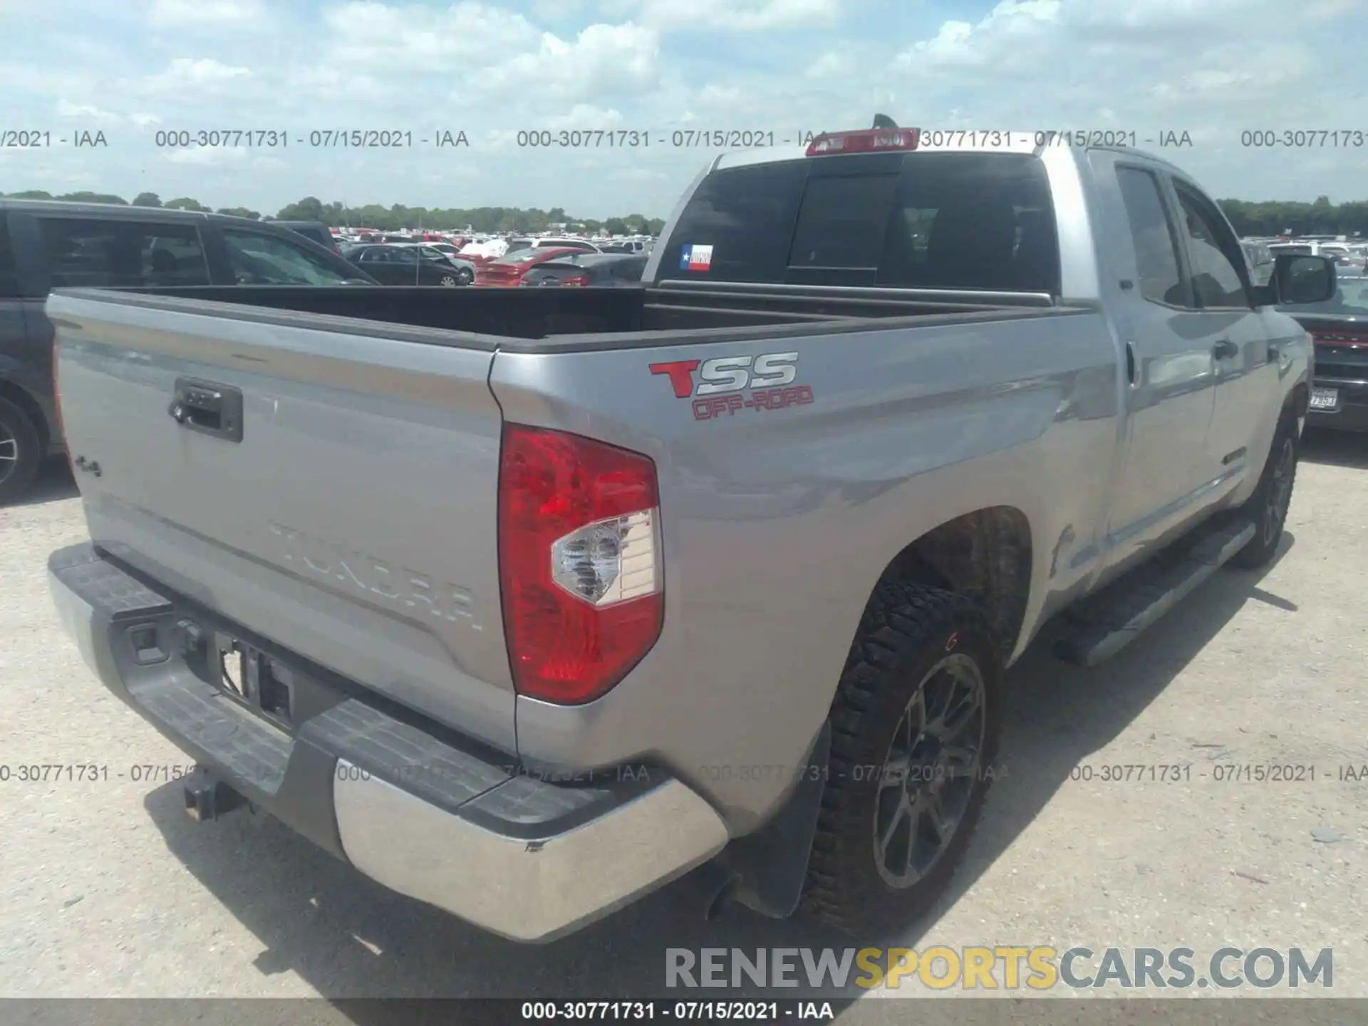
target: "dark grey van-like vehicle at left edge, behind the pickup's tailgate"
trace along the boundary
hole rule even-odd
[[[51,289],[378,285],[337,253],[271,223],[148,207],[0,200],[0,503],[60,453]]]

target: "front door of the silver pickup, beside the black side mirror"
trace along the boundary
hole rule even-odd
[[[1276,417],[1278,363],[1270,358],[1270,326],[1254,308],[1235,233],[1196,185],[1174,176],[1172,186],[1201,338],[1211,346],[1215,371],[1201,476],[1224,490],[1263,469],[1256,436]]]

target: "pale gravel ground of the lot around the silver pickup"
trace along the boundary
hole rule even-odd
[[[53,614],[47,555],[85,538],[63,469],[0,509],[0,762],[100,763],[111,777],[0,782],[0,996],[607,999],[663,993],[666,947],[848,947],[746,911],[707,926],[677,888],[565,941],[518,947],[272,821],[192,822],[178,785],[131,780],[134,765],[186,757],[104,691]],[[1189,947],[1198,962],[1224,945],[1331,947],[1331,993],[1368,996],[1368,781],[1339,778],[1368,763],[1365,471],[1368,439],[1312,436],[1271,569],[1222,572],[1097,669],[1036,644],[1008,676],[1005,777],[953,893],[881,943]],[[1268,763],[1315,766],[1316,780],[1216,780]],[[1190,770],[1104,782],[1108,765]],[[138,1007],[138,1022],[185,1018]],[[306,1022],[393,1021],[367,1008],[297,1005]],[[863,1000],[841,1021],[907,1012]]]

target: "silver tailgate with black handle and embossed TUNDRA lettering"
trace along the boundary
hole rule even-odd
[[[319,317],[264,324],[62,293],[47,309],[97,546],[516,750],[491,350],[447,332],[423,345],[413,328],[354,334]]]

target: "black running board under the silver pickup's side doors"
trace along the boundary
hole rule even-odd
[[[1055,642],[1055,655],[1075,666],[1109,659],[1159,617],[1211,577],[1254,536],[1248,520],[1198,528],[1170,550],[1081,599],[1060,618],[1073,631]]]

